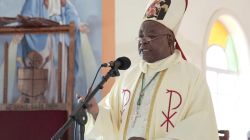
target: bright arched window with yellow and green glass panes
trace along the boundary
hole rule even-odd
[[[248,49],[236,20],[220,16],[209,31],[206,78],[212,94],[218,129],[230,131],[230,139],[246,139],[249,128],[250,95],[243,80],[249,67]],[[247,100],[248,99],[248,100]]]

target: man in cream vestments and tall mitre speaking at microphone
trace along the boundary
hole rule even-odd
[[[185,60],[175,38],[186,8],[187,0],[149,2],[138,37],[142,60],[99,105],[91,101],[88,139],[218,140],[204,73]]]

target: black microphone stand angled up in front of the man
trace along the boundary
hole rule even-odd
[[[88,102],[95,96],[98,90],[103,88],[103,85],[110,77],[120,76],[118,71],[118,67],[111,67],[109,72],[103,76],[102,81],[96,86],[96,88],[85,98],[83,102],[80,102],[75,111],[69,116],[68,120],[64,123],[64,125],[54,134],[51,140],[60,140],[63,134],[67,131],[67,129],[74,123],[79,123],[81,125],[80,128],[80,139],[84,140],[84,132],[85,132],[85,124],[88,121],[86,109],[88,107]]]

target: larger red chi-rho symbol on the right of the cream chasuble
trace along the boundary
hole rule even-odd
[[[164,124],[166,124],[166,131],[168,132],[168,129],[169,129],[169,124],[174,128],[174,124],[172,123],[171,121],[171,118],[174,117],[174,115],[177,113],[177,111],[175,111],[173,114],[170,115],[170,111],[171,110],[176,110],[177,108],[180,107],[181,103],[182,103],[182,97],[181,97],[181,94],[175,90],[168,90],[167,89],[167,95],[170,94],[170,97],[169,97],[169,102],[168,102],[168,114],[166,115],[166,113],[164,111],[162,111],[162,115],[164,116],[165,118],[165,121],[161,124],[161,127],[164,126]],[[179,103],[175,106],[175,107],[171,107],[172,105],[172,95],[177,95],[179,98],[180,98],[180,101]]]

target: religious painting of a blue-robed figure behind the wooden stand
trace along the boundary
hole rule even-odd
[[[85,95],[102,63],[102,1],[99,0],[0,0],[0,27],[75,25],[74,94]],[[58,46],[67,67],[68,34],[0,34],[0,103],[3,102],[4,45],[9,45],[8,103],[49,102],[57,99]],[[60,44],[58,42],[63,42]],[[25,81],[29,75],[43,81]],[[38,72],[39,71],[39,72]],[[67,69],[62,71],[65,94]],[[33,75],[34,77],[34,75]],[[98,75],[98,80],[101,76]],[[32,84],[38,83],[34,90]],[[32,88],[33,89],[33,88]],[[32,92],[32,94],[31,94]],[[43,96],[40,96],[44,93]],[[28,98],[36,96],[40,98]],[[98,95],[97,99],[100,99]],[[63,98],[66,100],[66,97]]]

